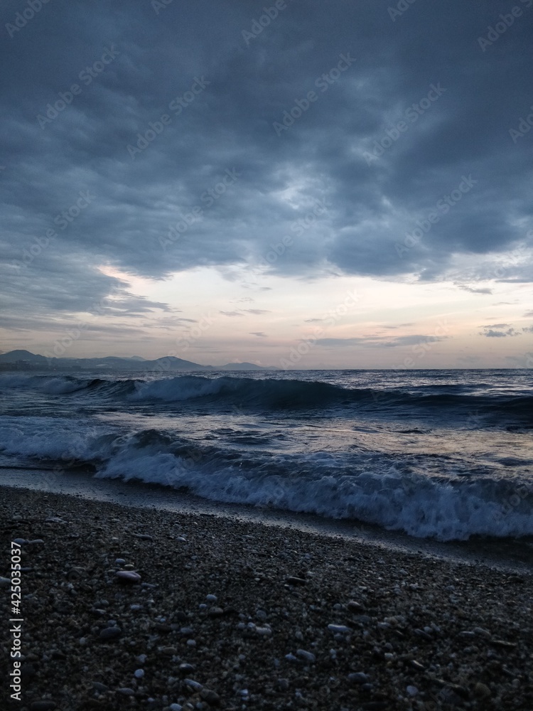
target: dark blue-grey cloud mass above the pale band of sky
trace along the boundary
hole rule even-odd
[[[90,312],[118,283],[101,264],[434,281],[455,255],[532,247],[533,132],[510,129],[532,101],[533,10],[483,51],[497,0],[419,2],[395,22],[389,5],[291,2],[247,42],[261,8],[227,0],[49,3],[16,31],[4,1],[10,313]],[[532,281],[527,254],[501,282]]]

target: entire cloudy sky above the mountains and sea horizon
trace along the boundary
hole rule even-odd
[[[0,350],[533,367],[533,0],[4,0]]]

